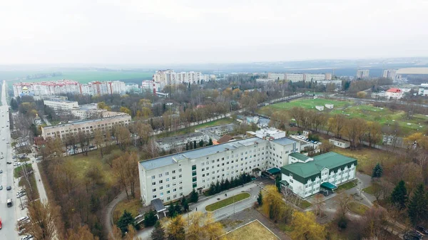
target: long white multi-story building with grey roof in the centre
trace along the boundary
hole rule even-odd
[[[298,142],[287,137],[245,140],[201,147],[174,155],[157,157],[138,163],[141,199],[150,204],[153,199],[170,202],[209,189],[222,179],[252,174],[253,170],[280,168],[288,155],[300,149]]]

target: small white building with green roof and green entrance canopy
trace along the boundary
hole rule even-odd
[[[315,157],[292,153],[294,161],[281,167],[281,183],[302,198],[318,192],[330,194],[337,186],[355,179],[357,160],[327,152]]]

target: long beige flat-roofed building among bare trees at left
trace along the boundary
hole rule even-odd
[[[77,135],[79,132],[93,134],[93,130],[99,129],[102,132],[111,131],[117,125],[131,124],[130,115],[118,115],[111,118],[99,118],[94,120],[84,120],[60,125],[41,127],[41,137],[44,139],[61,137],[66,139],[69,135]]]

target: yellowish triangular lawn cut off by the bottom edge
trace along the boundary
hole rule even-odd
[[[255,220],[241,226],[238,229],[230,231],[228,234],[220,237],[220,240],[233,239],[233,240],[277,240],[277,236],[272,234],[260,221]]]

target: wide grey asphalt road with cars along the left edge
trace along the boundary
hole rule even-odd
[[[15,230],[16,214],[19,211],[19,202],[16,202],[16,185],[14,184],[14,167],[7,165],[6,162],[13,162],[12,152],[10,147],[11,134],[9,127],[9,110],[8,103],[6,102],[6,85],[5,82],[1,88],[1,103],[0,106],[0,156],[3,155],[4,159],[0,160],[0,169],[3,173],[0,174],[0,184],[3,189],[0,190],[0,217],[2,229],[0,230],[0,239],[19,239],[18,233]],[[4,139],[4,140],[3,140]],[[6,144],[9,142],[9,144]],[[11,186],[12,189],[7,191],[6,187]],[[14,206],[7,207],[7,199],[12,199]],[[18,199],[19,200],[19,199]]]

